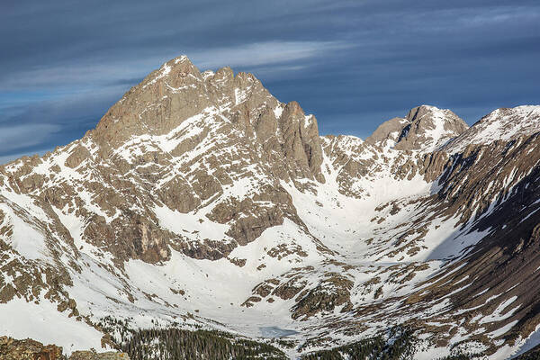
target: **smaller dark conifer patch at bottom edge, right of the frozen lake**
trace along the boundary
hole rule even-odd
[[[411,329],[396,328],[391,330],[391,340],[383,336],[367,338],[302,356],[302,360],[405,360],[412,359],[418,339]]]

